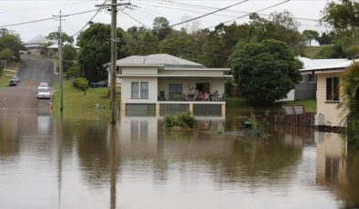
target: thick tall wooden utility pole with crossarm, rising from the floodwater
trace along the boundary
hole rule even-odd
[[[110,84],[109,84],[109,97],[110,97],[110,117],[109,123],[116,124],[117,105],[116,105],[116,61],[117,61],[117,13],[118,5],[131,5],[129,3],[118,3],[117,0],[112,0],[111,4],[96,5],[97,7],[110,7],[111,10],[111,64],[110,64]]]

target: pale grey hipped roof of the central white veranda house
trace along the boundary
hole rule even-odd
[[[118,66],[173,66],[173,67],[195,67],[206,68],[205,65],[201,65],[190,60],[185,60],[177,56],[159,54],[159,55],[132,55],[117,61]]]

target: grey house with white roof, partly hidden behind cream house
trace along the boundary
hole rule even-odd
[[[295,88],[287,94],[287,97],[280,100],[279,102],[315,99],[317,75],[313,74],[313,71],[307,70],[316,67],[323,67],[325,65],[341,64],[348,61],[348,59],[310,59],[301,56],[298,57],[298,60],[303,63],[303,69],[299,70],[302,75],[302,81],[298,85],[295,85]]]

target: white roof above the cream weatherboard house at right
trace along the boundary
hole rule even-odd
[[[358,60],[348,59],[309,59],[306,57],[298,57],[303,62],[301,72],[326,71],[335,69],[344,69]]]

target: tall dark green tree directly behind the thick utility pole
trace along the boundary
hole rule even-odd
[[[103,67],[110,61],[111,28],[105,24],[90,25],[87,30],[77,37],[80,46],[77,55],[80,64],[83,65],[85,75],[89,82],[103,80],[108,73]],[[118,28],[118,59],[129,55],[128,46],[124,41],[125,32]]]

